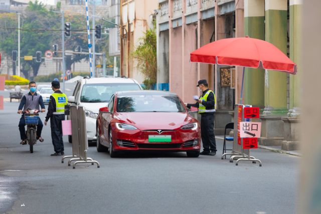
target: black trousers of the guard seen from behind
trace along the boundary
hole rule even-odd
[[[54,114],[50,118],[51,139],[55,152],[64,151],[64,141],[62,140],[62,122],[65,120],[64,114]]]

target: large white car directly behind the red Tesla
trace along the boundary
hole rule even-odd
[[[110,97],[117,91],[142,90],[136,80],[120,77],[84,78],[77,81],[68,104],[85,107],[86,129],[89,142],[96,141],[96,119],[99,108],[107,106]],[[70,116],[67,116],[70,119]],[[71,135],[68,136],[71,143]]]

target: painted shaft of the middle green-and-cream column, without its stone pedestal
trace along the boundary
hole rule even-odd
[[[265,1],[265,40],[286,54],[287,0]],[[286,73],[265,73],[265,114],[284,115],[286,107]]]

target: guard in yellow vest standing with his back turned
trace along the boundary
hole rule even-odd
[[[51,154],[51,156],[60,156],[65,154],[64,141],[62,140],[62,121],[65,120],[67,96],[60,91],[60,83],[58,81],[52,81],[51,86],[54,93],[50,96],[45,125],[50,119],[51,138],[55,150],[55,153]]]

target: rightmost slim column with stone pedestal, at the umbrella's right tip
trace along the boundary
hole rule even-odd
[[[301,65],[301,0],[290,1],[290,59],[295,62],[300,68]],[[301,71],[300,69],[298,69]],[[296,75],[290,75],[290,110],[286,117],[282,117],[284,122],[284,140],[282,142],[282,149],[297,150],[299,146],[299,98],[300,96],[300,76],[301,72]]]

